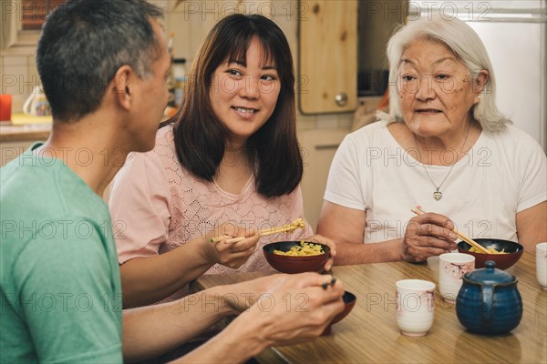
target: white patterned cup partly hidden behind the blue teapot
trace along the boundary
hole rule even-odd
[[[439,292],[447,302],[455,302],[461,288],[461,278],[475,268],[470,254],[446,253],[439,256]]]

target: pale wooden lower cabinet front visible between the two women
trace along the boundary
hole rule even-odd
[[[303,130],[298,133],[304,159],[304,177],[301,183],[304,217],[314,231],[321,207],[323,207],[328,170],[335,157],[336,149],[348,132],[346,128],[327,128]]]

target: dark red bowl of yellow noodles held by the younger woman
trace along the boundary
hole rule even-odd
[[[330,253],[330,248],[323,244],[318,244],[314,241],[305,241],[306,243],[318,244],[323,247],[324,253],[316,256],[294,257],[274,254],[274,250],[289,251],[291,248],[299,246],[301,241],[278,241],[266,244],[263,246],[264,258],[266,258],[270,266],[283,273],[321,272]]]

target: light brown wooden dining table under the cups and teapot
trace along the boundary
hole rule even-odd
[[[523,302],[520,325],[499,336],[473,334],[456,316],[454,304],[439,295],[439,258],[427,264],[377,263],[333,268],[356,306],[332,327],[330,335],[312,342],[266,349],[255,359],[264,363],[547,363],[547,290],[535,275],[535,252],[524,252],[505,271],[516,276]],[[202,276],[194,290],[263,276],[238,273]],[[396,323],[395,283],[426,279],[436,285],[435,319],[428,335],[402,335]]]

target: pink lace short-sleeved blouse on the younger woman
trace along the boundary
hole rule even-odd
[[[120,264],[168,252],[225,222],[260,229],[304,218],[300,187],[282,197],[265,198],[256,192],[251,177],[242,192],[233,195],[214,181],[191,175],[177,159],[172,126],[158,131],[150,152],[129,154],[112,184],[109,207]],[[271,270],[263,258],[263,245],[312,235],[306,226],[293,235],[261,238],[241,268],[216,264],[206,274]]]

